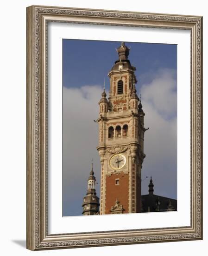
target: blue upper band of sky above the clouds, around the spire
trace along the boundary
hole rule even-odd
[[[80,88],[103,84],[104,77],[118,59],[120,42],[63,40],[63,86]],[[158,69],[176,69],[176,45],[128,43],[129,60],[137,68],[138,84],[149,83]],[[152,74],[152,75],[151,75]]]

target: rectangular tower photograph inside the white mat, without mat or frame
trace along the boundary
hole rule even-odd
[[[62,43],[63,216],[177,211],[177,45]]]

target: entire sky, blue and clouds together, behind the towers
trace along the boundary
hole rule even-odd
[[[100,197],[98,101],[103,81],[118,60],[120,42],[63,39],[63,216],[82,215],[82,200],[93,159]],[[177,46],[126,42],[137,68],[137,94],[145,112],[142,194],[152,176],[154,194],[177,198]],[[146,178],[148,177],[148,178]]]

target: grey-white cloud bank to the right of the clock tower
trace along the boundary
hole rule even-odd
[[[176,197],[176,79],[175,71],[160,70],[150,84],[141,86],[145,112],[144,160],[142,176],[152,175],[154,193]],[[148,194],[149,178],[142,182],[142,193]]]

